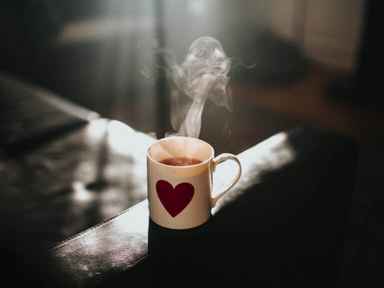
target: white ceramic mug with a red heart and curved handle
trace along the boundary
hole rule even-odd
[[[174,165],[167,159],[195,159],[199,163]],[[237,163],[237,174],[212,197],[212,174],[216,165],[227,159]],[[214,157],[212,146],[203,140],[182,136],[157,140],[147,151],[149,217],[173,229],[201,225],[210,217],[217,199],[237,182],[240,174],[241,165],[235,155],[223,153]]]

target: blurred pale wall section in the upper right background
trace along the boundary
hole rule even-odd
[[[316,61],[352,69],[364,0],[260,0],[255,16]]]

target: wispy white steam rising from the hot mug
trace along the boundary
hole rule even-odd
[[[170,122],[176,133],[168,135],[198,138],[208,98],[231,110],[232,95],[227,87],[230,64],[220,42],[203,36],[190,45],[181,65],[169,67],[168,75],[176,86],[171,93],[170,110]],[[183,100],[185,96],[188,101]]]

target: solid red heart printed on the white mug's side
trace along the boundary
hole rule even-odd
[[[190,183],[183,182],[173,188],[168,181],[158,180],[156,192],[165,210],[174,217],[189,204],[194,194],[194,187]]]

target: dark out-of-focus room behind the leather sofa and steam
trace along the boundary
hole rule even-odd
[[[217,38],[233,110],[207,102],[200,134],[217,153],[296,124],[358,143],[341,273],[351,286],[384,268],[381,11],[373,0],[2,0],[0,70],[160,137],[170,84],[155,51],[181,61],[196,38]]]

